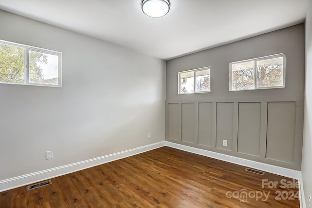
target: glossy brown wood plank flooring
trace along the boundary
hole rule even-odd
[[[262,179],[278,184],[262,188]],[[30,191],[0,192],[0,208],[299,208],[299,200],[292,200],[298,188],[283,188],[292,179],[250,173],[243,166],[170,147],[51,181]]]

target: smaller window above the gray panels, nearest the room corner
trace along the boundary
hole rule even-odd
[[[178,94],[210,92],[210,67],[178,73]]]

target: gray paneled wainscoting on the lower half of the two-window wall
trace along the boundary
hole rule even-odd
[[[166,141],[300,170],[302,106],[295,101],[167,103]]]

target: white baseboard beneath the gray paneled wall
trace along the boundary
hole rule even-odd
[[[258,170],[270,172],[273,174],[277,174],[277,175],[281,175],[281,176],[285,176],[285,177],[289,177],[289,178],[293,178],[297,180],[300,179],[300,171],[298,170],[293,170],[293,169],[280,167],[280,166],[273,166],[273,165],[269,165],[265,163],[260,163],[260,162],[256,162],[252,160],[234,157],[231,155],[221,154],[218,152],[212,152],[212,151],[199,149],[199,148],[195,148],[191,146],[180,145],[180,144],[176,144],[176,143],[172,143],[168,141],[166,141],[166,146],[180,149],[180,150],[187,151],[187,152],[192,152],[198,155],[203,155],[206,157],[211,157],[211,158],[215,158],[218,160],[234,163],[234,164],[241,165],[241,166],[252,167]]]

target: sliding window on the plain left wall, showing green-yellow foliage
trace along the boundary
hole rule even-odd
[[[61,53],[0,41],[0,83],[61,87]]]

